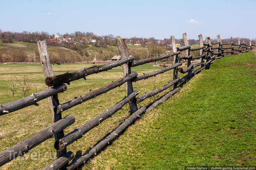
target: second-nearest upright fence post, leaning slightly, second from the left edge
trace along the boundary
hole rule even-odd
[[[120,53],[121,58],[129,57],[129,51],[128,51],[128,48],[126,46],[126,39],[116,38],[116,43],[117,43],[117,47],[119,49],[119,53]],[[130,65],[129,65],[129,63],[125,63],[125,64],[123,64],[123,76],[129,75],[129,74],[131,74]],[[130,80],[125,83],[125,87],[126,87],[126,94],[127,95],[130,95],[131,93],[133,93],[133,84]],[[134,112],[137,111],[138,108],[137,108],[135,98],[133,98],[129,102],[129,106],[130,106],[130,114],[133,114]]]

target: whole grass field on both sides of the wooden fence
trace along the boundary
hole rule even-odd
[[[55,74],[79,70],[84,65],[52,66]],[[90,65],[85,65],[86,67]],[[142,65],[132,71],[152,72],[159,68]],[[203,70],[173,98],[142,116],[120,137],[81,169],[184,169],[185,165],[255,165],[256,162],[256,56],[246,53],[225,57]],[[12,101],[9,84],[14,79],[28,77],[32,92],[45,89],[40,65],[0,65],[0,103]],[[183,75],[179,74],[179,77]],[[71,82],[67,91],[59,94],[61,103],[111,83],[122,77],[122,68],[114,68],[87,80]],[[163,86],[172,79],[172,71],[134,83],[142,93]],[[148,105],[159,96],[143,101]],[[62,113],[72,114],[76,122],[66,128],[67,134],[121,100],[125,88],[111,90]],[[16,100],[21,98],[21,92]],[[1,116],[0,151],[8,149],[51,124],[47,100]],[[84,154],[107,133],[127,118],[128,105],[115,113],[81,139],[67,147],[68,151]],[[31,149],[24,157],[4,165],[3,169],[41,169],[55,157],[54,139]],[[47,153],[47,154],[45,154]]]

